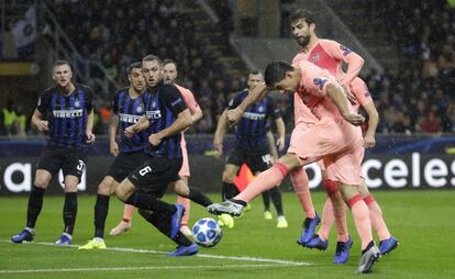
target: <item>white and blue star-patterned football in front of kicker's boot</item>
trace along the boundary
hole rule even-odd
[[[195,242],[198,245],[203,247],[213,247],[221,241],[223,231],[215,220],[204,217],[195,223],[192,226],[192,234]]]

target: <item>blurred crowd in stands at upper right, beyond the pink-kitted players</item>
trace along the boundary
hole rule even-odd
[[[398,72],[367,77],[380,133],[455,129],[455,8],[450,1],[376,1],[390,40],[403,56]]]

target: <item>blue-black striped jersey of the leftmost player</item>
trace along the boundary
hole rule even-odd
[[[48,121],[48,145],[81,148],[87,142],[87,116],[93,109],[93,96],[87,86],[76,85],[65,96],[57,86],[46,89],[36,109]]]

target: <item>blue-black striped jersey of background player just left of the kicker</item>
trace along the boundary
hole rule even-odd
[[[229,109],[235,109],[248,94],[248,89],[237,93],[229,103]],[[264,97],[249,105],[235,126],[235,144],[244,148],[264,148],[267,142],[267,120],[281,118],[281,111],[269,97]]]

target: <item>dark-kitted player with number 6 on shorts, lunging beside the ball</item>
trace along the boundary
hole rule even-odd
[[[142,71],[148,89],[144,96],[146,118],[141,118],[124,133],[133,136],[146,129],[149,131],[149,144],[145,148],[147,158],[115,188],[115,194],[124,203],[138,208],[138,213],[147,222],[178,244],[169,256],[195,255],[198,246],[180,232],[185,207],[160,200],[168,185],[173,185],[178,194],[193,201],[201,196],[178,176],[182,163],[181,132],[191,125],[191,113],[178,89],[163,82],[162,62],[157,56],[145,56]],[[196,202],[211,203],[207,200]]]

